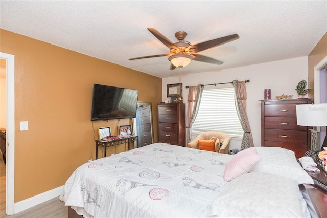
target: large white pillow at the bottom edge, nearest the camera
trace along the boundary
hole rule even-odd
[[[282,176],[246,173],[229,182],[213,201],[209,216],[303,217],[299,188]]]

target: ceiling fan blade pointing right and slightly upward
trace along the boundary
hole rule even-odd
[[[212,39],[209,41],[204,41],[201,43],[198,43],[196,45],[193,46],[189,46],[186,51],[189,51],[190,49],[194,50],[194,53],[197,52],[201,52],[204,51],[206,49],[210,49],[216,46],[220,46],[223,45],[224,43],[239,39],[240,36],[238,34],[233,34],[233,35],[229,35],[229,36],[225,36],[225,37],[221,37],[221,38],[216,38],[216,39]]]

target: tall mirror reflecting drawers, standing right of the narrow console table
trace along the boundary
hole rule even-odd
[[[150,105],[139,105],[136,109],[137,147],[153,143]]]

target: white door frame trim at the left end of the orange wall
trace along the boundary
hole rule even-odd
[[[6,214],[14,213],[15,56],[0,52],[6,61]]]

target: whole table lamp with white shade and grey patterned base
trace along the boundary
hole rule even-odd
[[[327,126],[327,104],[300,104],[296,105],[296,119],[299,126],[312,126],[311,150],[320,150],[319,126]],[[327,135],[322,147],[327,146]]]

